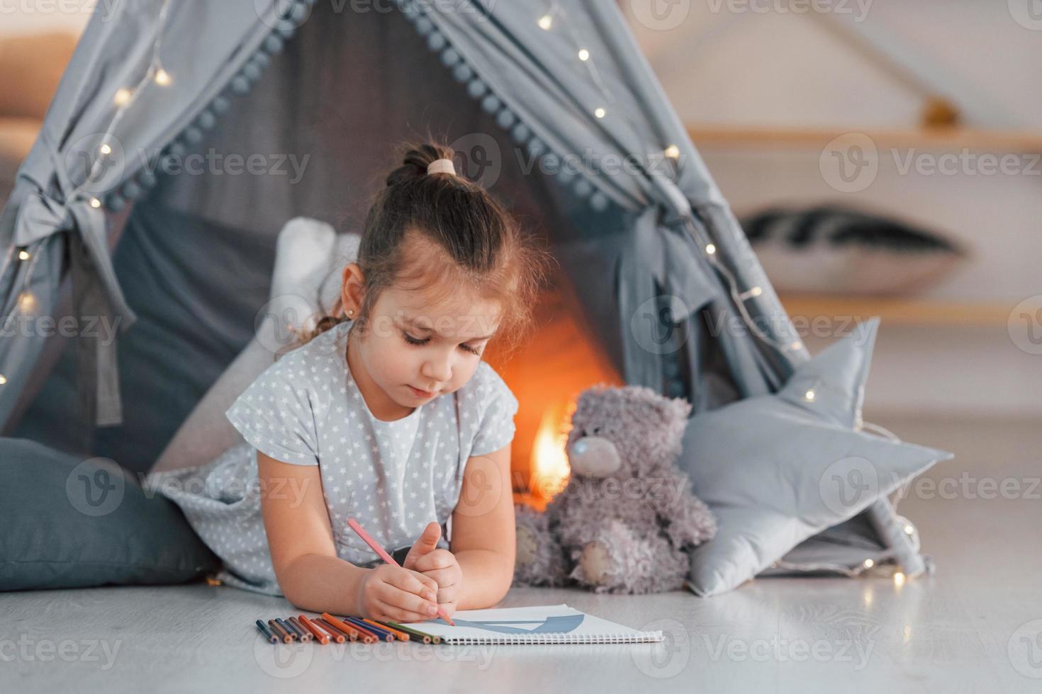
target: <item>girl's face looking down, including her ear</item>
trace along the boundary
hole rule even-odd
[[[344,309],[361,310],[362,274],[344,269]],[[496,302],[430,292],[383,290],[365,333],[352,328],[348,365],[370,411],[401,418],[439,395],[458,390],[473,376],[499,323]],[[359,326],[361,328],[361,326]],[[359,334],[355,334],[359,333]]]

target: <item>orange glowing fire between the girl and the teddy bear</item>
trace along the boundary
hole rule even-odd
[[[568,480],[565,441],[575,399],[592,385],[622,380],[568,291],[546,291],[536,317],[538,328],[511,359],[490,349],[488,361],[519,403],[511,448],[515,500],[542,510]]]

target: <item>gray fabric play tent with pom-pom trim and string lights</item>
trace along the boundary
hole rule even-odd
[[[390,145],[416,124],[498,150],[493,192],[552,243],[627,383],[699,412],[772,392],[809,358],[614,3],[554,3],[555,31],[534,2],[162,7],[127,0],[94,16],[0,216],[5,318],[23,291],[39,314],[55,310],[71,276],[73,313],[118,323],[120,337],[118,352],[83,336],[48,345],[57,366],[39,391],[26,384],[45,336],[5,337],[5,433],[147,469],[249,340],[281,224],[357,228]],[[573,59],[579,46],[589,61]],[[212,153],[293,165],[171,170]],[[921,562],[886,499],[867,515],[851,528]]]

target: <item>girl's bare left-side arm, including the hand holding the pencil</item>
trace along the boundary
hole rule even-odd
[[[430,618],[432,579],[395,566],[361,568],[337,556],[317,465],[292,465],[258,451],[257,477],[275,577],[290,602],[340,615]]]

